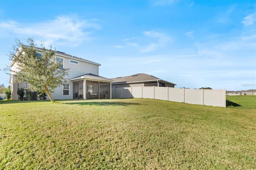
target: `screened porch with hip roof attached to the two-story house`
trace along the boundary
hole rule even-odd
[[[112,79],[88,73],[70,81],[73,83],[73,99],[111,99]]]

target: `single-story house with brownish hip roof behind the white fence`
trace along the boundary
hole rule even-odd
[[[112,88],[120,87],[140,87],[140,86],[156,86],[156,87],[174,87],[176,84],[164,81],[152,75],[139,73],[126,77],[112,78]]]

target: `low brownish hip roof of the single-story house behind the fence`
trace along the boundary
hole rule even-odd
[[[150,81],[164,81],[162,79],[159,79],[155,76],[144,74],[144,73],[139,73],[139,74],[134,74],[126,77],[116,77],[116,78],[111,78],[114,80],[112,84],[124,84],[124,83],[140,83],[140,82],[150,82]],[[171,83],[169,81],[164,81],[169,84],[176,85],[174,83]]]

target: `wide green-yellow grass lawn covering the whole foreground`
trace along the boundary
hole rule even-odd
[[[256,96],[227,100],[0,101],[0,169],[256,169]]]

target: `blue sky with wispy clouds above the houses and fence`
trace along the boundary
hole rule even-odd
[[[0,68],[15,39],[100,63],[100,76],[256,89],[255,0],[0,0]],[[9,76],[0,71],[0,84]]]

